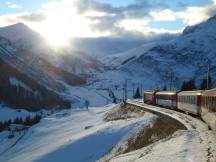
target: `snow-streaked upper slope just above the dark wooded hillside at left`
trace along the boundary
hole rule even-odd
[[[84,79],[57,68],[31,51],[17,49],[13,43],[3,37],[0,37],[0,58],[19,72],[54,90],[64,88],[58,80],[69,81],[68,83],[72,85],[85,83]]]

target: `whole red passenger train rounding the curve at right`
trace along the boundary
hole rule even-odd
[[[200,116],[216,130],[216,89],[205,91],[145,91],[144,103]]]

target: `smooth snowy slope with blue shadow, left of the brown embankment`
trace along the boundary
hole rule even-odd
[[[154,115],[105,122],[103,116],[113,105],[63,110],[31,127],[12,149],[0,156],[4,162],[94,162],[122,138],[143,124],[151,124]]]

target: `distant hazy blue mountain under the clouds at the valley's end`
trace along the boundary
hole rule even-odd
[[[137,48],[145,43],[161,40],[171,40],[177,34],[161,34],[157,36],[120,36],[120,37],[98,37],[98,38],[76,38],[72,40],[76,50],[99,58],[108,57],[116,53]],[[130,39],[128,39],[130,37]]]

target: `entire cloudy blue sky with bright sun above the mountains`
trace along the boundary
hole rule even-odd
[[[216,14],[216,0],[1,0],[0,26],[22,22],[45,37],[180,33]]]

